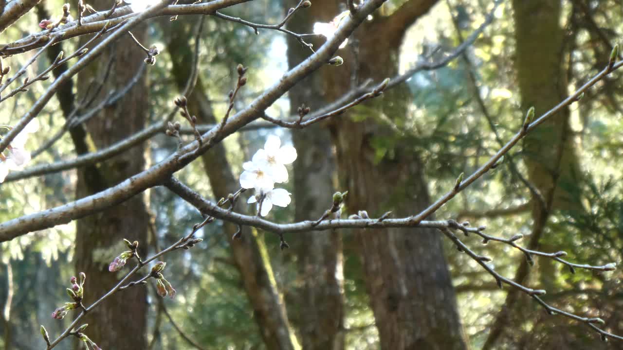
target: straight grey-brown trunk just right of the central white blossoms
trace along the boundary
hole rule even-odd
[[[305,13],[288,23],[288,29],[312,32],[313,22],[313,13]],[[298,40],[288,37],[290,68],[310,53]],[[312,109],[320,108],[326,102],[322,95],[321,78],[312,75],[288,92],[290,111],[296,113],[303,103]],[[295,220],[316,220],[331,206],[334,191],[336,164],[331,135],[326,126],[314,125],[293,130],[292,142],[298,153],[294,163]],[[306,232],[291,243],[298,257],[298,280],[302,283],[298,289],[297,326],[303,349],[343,349],[345,300],[340,233]]]

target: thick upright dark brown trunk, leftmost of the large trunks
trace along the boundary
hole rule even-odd
[[[97,8],[110,6],[107,1],[95,1]],[[146,27],[136,27],[136,38],[145,40]],[[145,43],[149,46],[148,43]],[[103,54],[78,75],[79,92],[101,75],[113,57],[112,71],[103,93],[125,86],[143,64],[145,54],[129,35],[118,40],[112,49]],[[114,106],[105,108],[87,123],[87,130],[95,148],[103,148],[122,140],[145,126],[149,110],[145,77]],[[100,164],[97,177],[88,169],[78,169],[77,197],[114,186],[145,168],[145,146],[128,149],[125,153]],[[115,255],[127,250],[122,239],[140,242],[141,255],[146,253],[148,214],[144,194],[113,206],[101,213],[77,222],[76,272],[85,272],[85,303],[97,300],[114,286],[123,275],[108,272],[108,264]],[[133,264],[133,263],[130,263]],[[88,336],[103,349],[145,349],[146,344],[146,288],[129,288],[108,298],[84,319],[90,324]]]

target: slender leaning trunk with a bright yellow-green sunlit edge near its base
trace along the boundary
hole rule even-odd
[[[174,77],[179,88],[186,85],[186,78],[193,62],[193,52],[188,44],[189,35],[182,26],[181,23],[173,23],[174,29],[168,46],[168,52],[173,58]],[[193,93],[188,96],[188,109],[197,116],[200,123],[215,123],[216,118],[205,91],[201,78],[197,79]],[[227,198],[228,194],[240,188],[237,178],[231,171],[222,143],[210,149],[201,160],[216,198]],[[227,223],[223,227],[267,349],[297,349],[297,339],[290,329],[285,305],[270,267],[263,235],[244,227],[242,239],[234,240],[232,236],[238,229],[237,225]]]

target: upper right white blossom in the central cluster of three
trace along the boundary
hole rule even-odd
[[[264,149],[258,149],[254,154],[252,162],[260,164],[261,168],[265,168],[269,172],[269,176],[273,182],[282,183],[288,181],[288,170],[286,164],[291,164],[297,159],[297,150],[292,146],[281,146],[281,140],[276,135],[270,135]],[[254,186],[256,188],[268,188],[262,186]],[[272,186],[270,186],[272,189]]]

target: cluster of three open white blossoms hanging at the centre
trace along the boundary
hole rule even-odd
[[[297,150],[292,146],[282,146],[278,136],[270,135],[263,149],[259,149],[250,162],[242,164],[240,186],[255,189],[247,203],[256,203],[260,215],[266,216],[274,206],[286,207],[290,204],[290,192],[275,188],[275,183],[288,181],[286,164],[297,159]],[[260,205],[261,204],[261,205]]]

